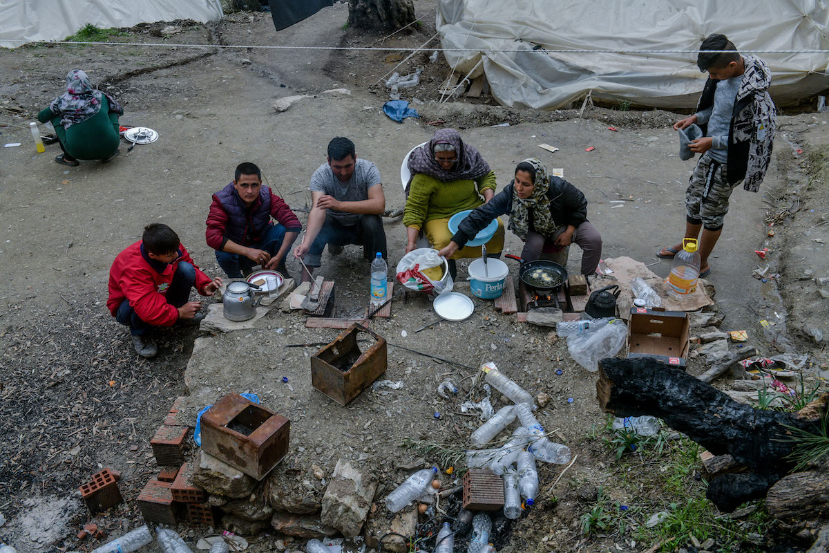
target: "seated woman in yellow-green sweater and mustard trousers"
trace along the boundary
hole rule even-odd
[[[412,178],[403,211],[406,226],[406,253],[417,246],[420,230],[436,250],[452,240],[448,221],[458,211],[475,209],[495,194],[495,172],[478,150],[464,144],[455,129],[440,129],[428,143],[415,148],[409,158]],[[487,254],[500,254],[504,247],[504,226],[487,242]],[[449,259],[480,257],[481,246],[459,249]]]

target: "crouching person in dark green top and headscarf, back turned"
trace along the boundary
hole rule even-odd
[[[66,75],[66,92],[37,114],[41,123],[51,121],[63,153],[56,163],[75,167],[79,159],[108,162],[118,155],[118,117],[124,109],[115,99],[95,90],[80,69]]]

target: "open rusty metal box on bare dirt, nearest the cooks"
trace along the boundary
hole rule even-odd
[[[365,352],[357,345],[360,332],[376,340]],[[311,386],[347,405],[385,372],[387,362],[385,340],[362,325],[352,324],[311,357]]]

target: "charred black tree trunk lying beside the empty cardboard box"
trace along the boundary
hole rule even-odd
[[[652,359],[609,358],[599,362],[596,395],[608,413],[656,416],[711,454],[731,455],[749,468],[711,481],[706,495],[721,511],[763,497],[788,473],[793,444],[779,441],[789,434],[783,424],[817,432],[829,400],[824,394],[798,413],[758,410]]]

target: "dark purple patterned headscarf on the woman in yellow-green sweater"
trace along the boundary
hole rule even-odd
[[[458,161],[448,171],[440,166],[434,158],[434,145],[452,144],[458,154]],[[412,175],[424,174],[439,181],[474,180],[490,172],[489,165],[483,160],[478,150],[464,144],[460,133],[455,129],[440,129],[428,143],[416,148],[409,157],[409,170]]]

